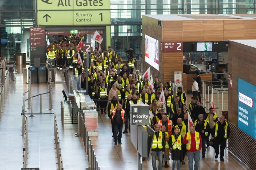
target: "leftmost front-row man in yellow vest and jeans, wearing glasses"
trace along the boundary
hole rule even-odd
[[[160,125],[155,124],[155,135],[153,139],[151,155],[152,155],[152,166],[153,170],[156,170],[156,156],[158,157],[158,170],[163,169],[163,154],[165,150],[165,141],[163,139],[163,133],[160,130]]]

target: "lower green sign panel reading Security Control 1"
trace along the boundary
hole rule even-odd
[[[109,10],[38,11],[38,25],[108,25]],[[77,31],[77,30],[70,30]]]

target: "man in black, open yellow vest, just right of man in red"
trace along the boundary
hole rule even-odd
[[[195,121],[195,129],[197,132],[199,132],[199,134],[202,137],[202,158],[205,158],[205,143],[206,143],[206,138],[209,135],[209,123],[204,120],[204,115],[200,114],[198,115],[198,119]]]

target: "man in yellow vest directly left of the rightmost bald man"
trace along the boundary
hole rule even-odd
[[[216,122],[219,121],[218,116],[214,113],[215,110],[214,108],[210,107],[210,112],[206,113],[204,115],[204,120],[206,120],[209,123],[210,129],[209,129],[209,135],[206,137],[206,148],[209,148],[209,139],[210,139],[210,134],[212,132],[213,126],[215,125]]]

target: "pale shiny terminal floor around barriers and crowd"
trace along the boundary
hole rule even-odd
[[[22,67],[18,68],[21,73]],[[56,112],[59,127],[60,146],[62,160],[65,170],[82,170],[88,166],[81,139],[74,136],[77,132],[77,125],[62,129],[60,118],[60,100],[63,100],[61,90],[66,90],[64,77],[61,73],[56,73],[56,83],[53,87],[53,111],[49,108],[48,95],[42,96],[43,113]],[[32,84],[31,95],[48,91],[47,84]],[[18,74],[16,81],[10,82],[8,96],[5,101],[4,112],[0,119],[0,170],[16,170],[22,167],[23,144],[21,137],[21,115],[22,93],[27,91],[27,85],[23,84],[23,75]],[[189,95],[187,97],[189,99]],[[226,103],[227,104],[227,103]],[[30,113],[30,110],[28,110]],[[33,98],[33,113],[39,113],[39,98]],[[28,116],[28,115],[27,115]],[[40,170],[56,170],[55,159],[56,149],[54,149],[53,115],[43,114],[28,118],[29,145],[28,145],[28,165],[27,167],[40,167]],[[99,165],[103,170],[134,170],[137,169],[137,151],[130,141],[130,133],[124,134],[122,144],[114,145],[111,124],[107,115],[99,115],[99,136],[91,137],[93,148],[99,160]],[[207,149],[206,158],[200,160],[199,169],[229,169],[242,170],[241,166],[228,151],[225,151],[225,162],[214,159],[212,147]],[[181,169],[188,169],[187,157],[185,165]],[[172,160],[168,161],[172,165]],[[152,169],[151,159],[143,161],[143,169]],[[163,168],[167,169],[167,168]],[[171,169],[171,166],[170,168]]]

